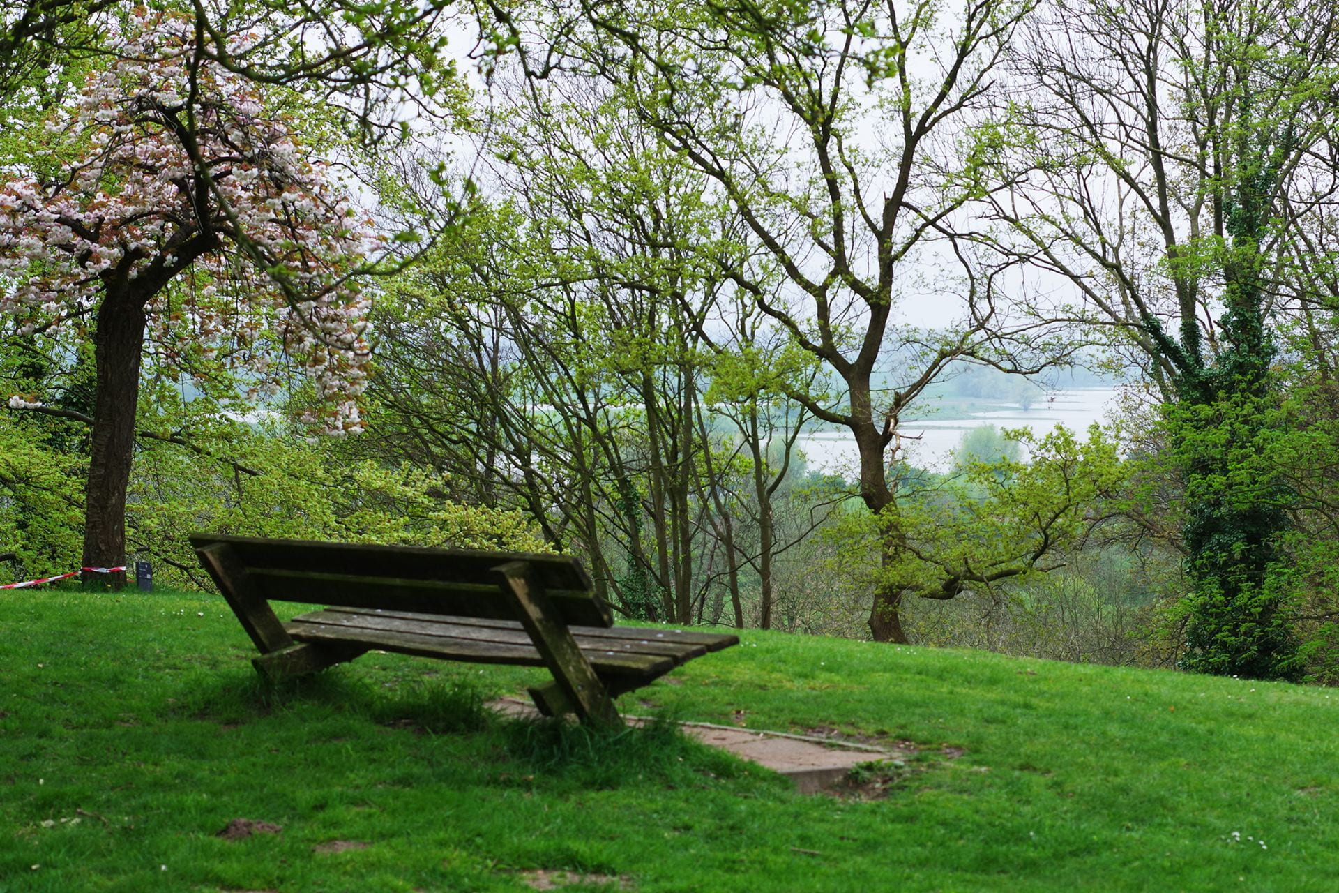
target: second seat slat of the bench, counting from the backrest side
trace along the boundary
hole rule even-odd
[[[520,623],[503,625],[502,621],[475,621],[469,617],[446,617],[432,615],[387,615],[380,611],[313,611],[293,617],[293,623],[328,624],[331,627],[353,627],[384,629],[387,632],[407,632],[420,636],[450,636],[454,639],[474,639],[477,641],[501,641],[509,644],[530,644],[530,635]],[[569,627],[572,637],[584,652],[619,651],[641,655],[663,655],[675,663],[684,663],[707,653],[703,645],[695,643],[664,641],[659,639],[620,639],[611,636],[585,636],[580,631],[589,627]],[[605,631],[597,631],[605,632]]]

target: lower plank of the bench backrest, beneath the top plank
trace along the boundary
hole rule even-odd
[[[280,568],[253,569],[250,576],[265,597],[273,601],[308,601],[344,608],[383,608],[493,620],[516,619],[516,609],[498,592],[497,584],[486,588],[462,586],[431,580],[355,577]],[[607,619],[613,623],[608,606],[589,593],[564,590],[554,594],[553,604],[568,624],[605,627]]]

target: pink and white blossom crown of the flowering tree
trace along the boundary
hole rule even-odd
[[[366,216],[254,84],[197,60],[187,16],[138,9],[112,43],[32,170],[0,174],[0,312],[50,331],[142,299],[154,343],[212,359],[228,340],[260,374],[274,333],[328,430],[360,430],[368,305],[349,276],[378,248]]]

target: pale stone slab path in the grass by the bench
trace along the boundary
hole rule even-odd
[[[501,698],[490,707],[507,716],[538,719],[540,712],[528,700]],[[629,726],[645,722],[641,716],[624,718]],[[730,751],[735,756],[766,766],[789,778],[802,794],[814,794],[845,781],[852,767],[877,759],[897,756],[893,751],[853,742],[830,742],[813,735],[793,735],[755,728],[736,728],[714,723],[679,723],[684,734],[703,744]]]

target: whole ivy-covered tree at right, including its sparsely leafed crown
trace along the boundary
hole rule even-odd
[[[1280,331],[1332,301],[1334,11],[1229,0],[1048,3],[1012,74],[995,194],[1006,250],[1075,288],[1165,400],[1186,501],[1184,665],[1302,672],[1283,544]],[[1330,304],[1332,307],[1332,304]]]

